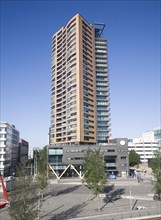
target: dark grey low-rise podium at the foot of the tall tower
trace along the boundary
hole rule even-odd
[[[128,139],[116,138],[109,144],[96,145],[50,145],[48,147],[48,159],[52,169],[61,174],[69,164],[72,164],[80,173],[83,170],[83,157],[88,149],[100,149],[104,155],[105,169],[107,173],[115,173],[119,176],[128,175]],[[93,168],[95,169],[95,168]],[[71,175],[72,170],[66,174]]]

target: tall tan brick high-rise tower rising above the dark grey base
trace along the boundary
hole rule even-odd
[[[75,15],[52,38],[50,144],[107,143],[109,77],[104,24]]]

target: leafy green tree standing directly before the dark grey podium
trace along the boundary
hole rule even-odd
[[[97,197],[104,190],[104,184],[107,182],[105,173],[105,161],[100,149],[87,150],[83,158],[84,182],[88,188]],[[100,203],[98,200],[98,210]]]

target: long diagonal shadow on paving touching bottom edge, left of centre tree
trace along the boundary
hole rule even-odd
[[[66,211],[63,211],[61,213],[55,214],[50,220],[66,220],[69,218],[75,218],[78,213],[81,212],[82,208],[86,206],[86,203],[78,204],[73,206],[70,209],[67,209]]]

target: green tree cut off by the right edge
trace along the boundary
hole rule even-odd
[[[161,154],[157,152],[155,158],[151,163],[152,170],[156,181],[154,182],[154,188],[158,194],[161,195]]]

